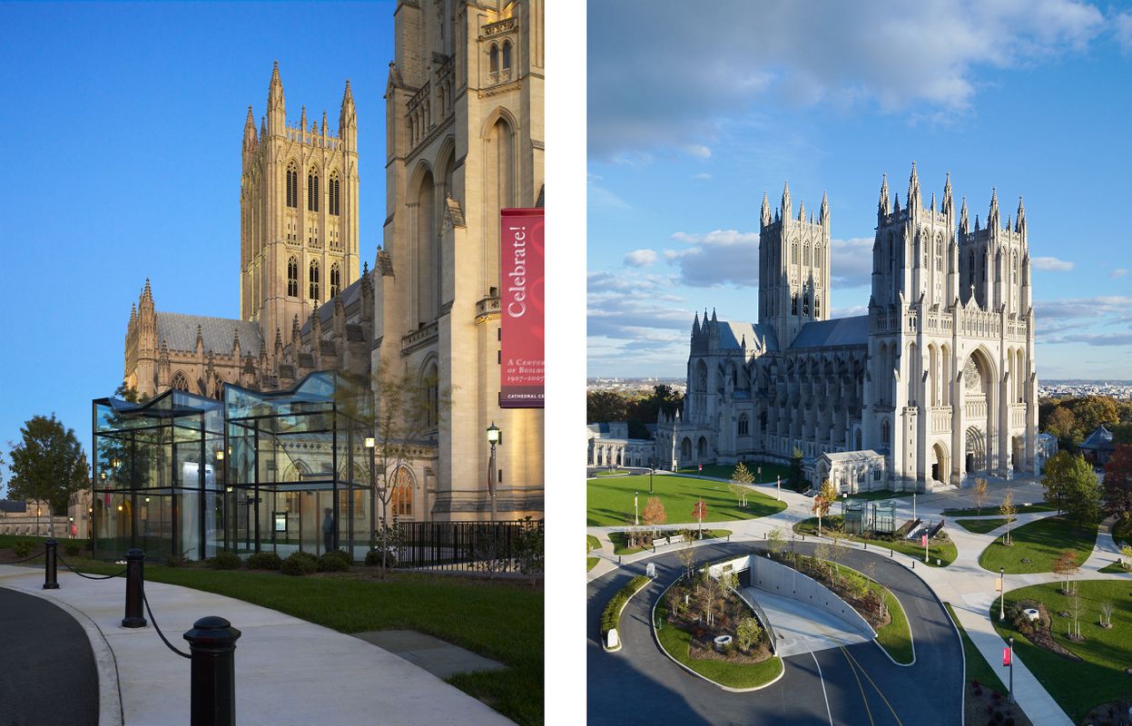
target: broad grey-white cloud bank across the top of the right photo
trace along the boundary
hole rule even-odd
[[[1121,42],[1132,42],[1126,16]],[[694,21],[683,3],[624,0],[593,3],[589,20],[589,144],[602,159],[710,150],[720,124],[757,103],[946,120],[971,107],[985,69],[1082,50],[1105,26],[1079,0],[717,0]],[[752,42],[752,28],[773,32]]]

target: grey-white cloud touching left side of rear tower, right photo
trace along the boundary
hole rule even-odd
[[[679,268],[679,284],[692,287],[758,285],[758,233],[715,230],[706,234],[672,235],[688,247],[664,250],[664,259]]]

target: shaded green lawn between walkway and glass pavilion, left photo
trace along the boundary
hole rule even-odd
[[[121,570],[114,563],[92,560],[72,563],[103,574]],[[288,577],[146,563],[145,574],[151,581],[226,595],[340,632],[418,630],[436,636],[508,666],[506,671],[457,674],[449,683],[520,724],[543,723],[540,590],[509,580],[415,573],[393,573],[381,582],[366,579],[369,573],[360,568]],[[458,604],[455,617],[454,604]],[[233,625],[239,628],[240,623]]]

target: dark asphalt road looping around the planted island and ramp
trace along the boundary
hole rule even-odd
[[[809,554],[813,544],[798,544]],[[758,543],[696,548],[698,563],[762,550]],[[589,723],[625,724],[842,724],[854,726],[954,726],[962,723],[963,651],[946,611],[928,587],[901,564],[869,552],[847,552],[842,562],[857,570],[876,561],[876,579],[908,614],[916,663],[898,666],[874,642],[832,648],[783,659],[786,672],[773,685],[731,693],[674,664],[652,634],[652,606],[681,565],[670,553],[648,560],[657,579],[638,593],[621,615],[623,647],[601,648],[599,621],[606,603],[646,561],[621,568],[589,585]],[[824,692],[823,692],[824,685]]]

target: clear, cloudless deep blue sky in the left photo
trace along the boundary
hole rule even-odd
[[[0,450],[54,412],[89,448],[130,303],[237,318],[240,141],[272,61],[289,120],[358,106],[361,254],[385,217],[392,2],[0,3]]]

